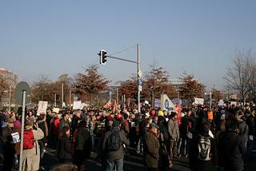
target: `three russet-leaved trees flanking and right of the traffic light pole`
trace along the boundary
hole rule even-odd
[[[155,98],[160,98],[162,93],[166,93],[170,98],[180,97],[191,101],[194,97],[204,97],[205,85],[202,85],[190,74],[183,74],[179,78],[181,85],[176,89],[170,82],[170,76],[162,67],[155,65],[150,66],[150,71],[143,78],[142,84],[142,99],[152,101]],[[137,78],[132,77],[124,82],[120,89],[121,95],[136,99],[138,92]]]

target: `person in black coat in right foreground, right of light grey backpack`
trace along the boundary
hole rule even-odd
[[[231,122],[230,128],[222,134],[218,151],[225,171],[243,170],[243,154],[246,153],[246,144],[242,135],[238,134],[237,122]]]

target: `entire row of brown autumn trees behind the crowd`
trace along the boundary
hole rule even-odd
[[[243,62],[240,58],[237,60],[240,63]],[[240,63],[238,66],[240,66]],[[252,62],[250,61],[250,65],[251,64]],[[254,68],[254,70],[256,69]],[[230,71],[229,74],[233,73]],[[250,79],[252,78],[254,77],[250,76]],[[179,85],[178,89],[176,89],[177,86],[171,84],[170,75],[166,70],[156,65],[150,66],[150,70],[146,72],[145,77],[142,78],[142,80],[142,100],[152,101],[152,103],[154,103],[155,98],[159,99],[162,93],[166,93],[170,98],[179,97],[181,99],[186,99],[187,101],[192,101],[194,97],[205,97],[205,85],[202,85],[202,83],[198,82],[193,75],[186,74],[186,72],[179,78],[181,85]],[[230,82],[231,80],[232,79],[230,79]],[[63,84],[64,101],[66,101],[67,104],[73,102],[72,99],[74,96],[78,96],[79,100],[90,101],[90,104],[95,104],[95,102],[99,101],[101,98],[101,93],[108,89],[109,83],[110,81],[108,81],[102,74],[98,73],[97,65],[88,66],[84,73],[79,73],[74,78],[71,78],[68,74],[63,74],[54,82],[45,75],[41,75],[39,76],[38,81],[31,85],[31,102],[38,103],[38,101],[49,101],[52,105],[56,102],[57,105],[61,106]],[[254,84],[256,85],[256,81],[254,81]],[[250,88],[251,87],[252,85]],[[8,88],[9,85],[0,77],[0,97],[6,95]],[[239,88],[241,88],[241,86]],[[248,90],[246,89],[242,92],[247,91]],[[252,89],[250,89],[250,92],[251,91]],[[122,82],[122,85],[119,88],[119,97],[122,95],[126,95],[126,97],[130,97],[131,99],[134,99],[134,101],[137,101],[137,77],[132,76],[130,79],[126,80],[126,82]],[[217,89],[213,89],[212,97],[216,100],[223,99],[223,93]]]

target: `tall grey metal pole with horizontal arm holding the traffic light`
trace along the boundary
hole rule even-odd
[[[137,72],[137,75],[138,75],[138,82],[139,82],[139,79],[141,78],[141,75],[142,75],[142,72],[141,72],[141,57],[140,57],[140,54],[141,54],[141,50],[140,50],[140,45],[138,44],[137,45],[137,62],[135,61],[131,61],[131,60],[128,60],[128,59],[123,59],[123,58],[117,58],[117,57],[113,57],[113,56],[110,56],[110,55],[106,55],[107,58],[114,58],[114,59],[118,59],[118,60],[121,60],[121,61],[125,61],[125,62],[132,62],[132,63],[136,63],[138,65],[138,72]],[[98,54],[100,55],[100,54]],[[138,113],[141,113],[141,86],[142,85],[139,85],[138,84]]]

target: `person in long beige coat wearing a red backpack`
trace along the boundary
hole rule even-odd
[[[40,146],[38,145],[38,140],[44,137],[42,129],[35,125],[36,129],[33,129],[33,121],[26,121],[25,129],[32,129],[34,134],[34,147],[32,149],[23,149],[22,156],[22,171],[36,171],[39,169],[40,164]]]

